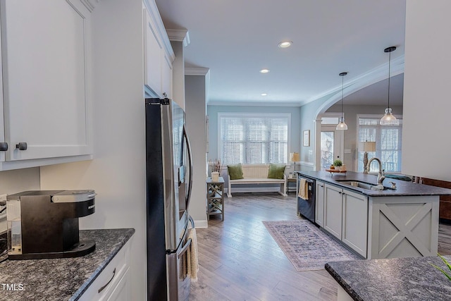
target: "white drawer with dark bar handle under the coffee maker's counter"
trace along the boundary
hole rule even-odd
[[[80,297],[82,301],[107,300],[129,266],[129,243],[124,245]],[[100,290],[100,291],[99,291]]]

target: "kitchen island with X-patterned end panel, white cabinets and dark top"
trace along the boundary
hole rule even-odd
[[[439,197],[451,190],[392,178],[383,180],[384,190],[371,190],[371,174],[296,173],[316,181],[315,223],[362,258],[437,254]]]

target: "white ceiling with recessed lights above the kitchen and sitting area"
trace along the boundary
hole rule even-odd
[[[377,68],[385,68],[387,78],[383,49],[396,46],[391,59],[403,62],[405,1],[156,0],[156,5],[167,29],[189,32],[185,66],[210,69],[210,103],[295,105],[341,95],[338,74],[344,71],[345,86],[357,87]],[[292,47],[278,48],[286,39]],[[270,72],[261,74],[261,68]],[[402,76],[396,78],[390,80],[390,104],[402,102]],[[369,84],[362,83],[369,92],[351,94],[350,102],[386,103],[388,82]]]

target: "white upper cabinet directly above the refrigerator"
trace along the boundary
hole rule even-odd
[[[172,97],[175,59],[171,43],[153,1],[142,8],[144,44],[144,90],[150,97]]]

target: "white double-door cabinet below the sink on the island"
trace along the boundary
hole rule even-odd
[[[328,184],[323,193],[323,228],[366,258],[368,197]]]

